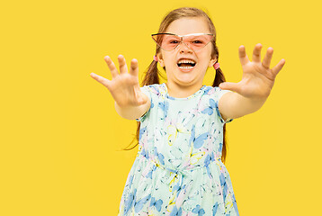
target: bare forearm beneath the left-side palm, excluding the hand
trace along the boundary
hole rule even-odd
[[[120,106],[115,102],[115,111],[124,119],[139,119],[150,108],[150,100],[139,106]]]

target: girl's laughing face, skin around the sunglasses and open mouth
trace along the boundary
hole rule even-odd
[[[175,20],[165,32],[178,35],[211,33],[209,25],[203,17],[184,17]],[[201,87],[207,68],[212,67],[217,61],[217,59],[211,59],[211,42],[198,51],[189,49],[183,43],[180,43],[172,51],[160,50],[161,53],[158,53],[158,61],[161,67],[165,67],[167,82],[171,83],[171,85]],[[191,69],[179,67],[178,62],[182,59],[194,61],[195,66]]]

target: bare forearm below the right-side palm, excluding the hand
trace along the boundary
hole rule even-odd
[[[220,110],[222,110],[223,117],[228,117],[230,119],[237,119],[246,114],[256,112],[265,103],[267,97],[264,98],[247,98],[236,92],[231,92],[222,95],[222,97],[227,96],[224,100],[220,100],[219,103]]]

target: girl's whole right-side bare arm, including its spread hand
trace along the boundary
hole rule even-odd
[[[256,44],[253,61],[249,61],[244,46],[239,47],[239,59],[243,67],[243,77],[239,83],[221,83],[219,87],[231,90],[219,99],[219,112],[223,119],[236,119],[259,110],[271,94],[275,77],[285,64],[282,59],[270,69],[273,48],[268,48],[261,62],[262,44]]]

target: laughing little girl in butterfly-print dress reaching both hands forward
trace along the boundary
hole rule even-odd
[[[112,80],[91,76],[106,86],[121,117],[139,121],[139,151],[121,196],[119,215],[239,215],[225,161],[226,123],[257,111],[272,91],[282,59],[270,68],[273,49],[261,62],[257,44],[253,61],[239,47],[243,77],[227,83],[219,68],[216,31],[197,8],[167,14],[157,34],[156,56],[139,86],[138,61],[130,74],[118,57],[120,74],[105,57]],[[157,63],[167,82],[159,84]],[[212,86],[202,85],[215,67]]]

